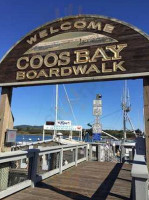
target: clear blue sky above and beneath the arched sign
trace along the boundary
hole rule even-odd
[[[148,0],[0,0],[0,58],[21,37],[33,29],[59,17],[97,14],[114,17],[149,33]],[[103,96],[102,126],[104,129],[122,129],[121,96],[124,81],[67,84],[78,124],[93,123],[92,101],[97,93]],[[129,80],[131,120],[135,128],[143,129],[143,83]],[[63,86],[59,87],[59,119],[73,120]],[[43,125],[54,120],[55,86],[14,88],[12,111],[15,125]]]

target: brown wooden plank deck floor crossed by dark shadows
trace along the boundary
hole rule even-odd
[[[131,199],[131,165],[84,162],[5,200]]]

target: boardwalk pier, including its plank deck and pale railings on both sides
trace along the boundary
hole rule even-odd
[[[3,153],[0,199],[147,200],[148,169],[139,145],[143,139],[137,140],[133,163],[120,163],[110,152],[101,161],[101,144],[95,143]]]

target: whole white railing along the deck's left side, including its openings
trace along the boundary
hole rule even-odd
[[[88,159],[87,144],[59,145],[0,154],[0,199]]]

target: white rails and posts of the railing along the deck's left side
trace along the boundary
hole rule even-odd
[[[83,157],[78,157],[78,149],[84,148],[84,155]],[[70,151],[73,149],[73,152],[70,154],[70,156],[73,156],[72,161],[70,163],[67,163],[64,165],[63,163],[63,156],[65,151]],[[51,153],[58,153],[59,154],[59,165],[58,167],[52,170],[42,170],[42,174],[37,172],[37,166],[38,166],[38,160],[41,156],[42,159],[45,159],[44,155],[51,154]],[[75,155],[74,155],[75,153]],[[6,163],[3,165],[2,168],[6,168],[7,171],[7,178],[8,173],[10,170],[10,162],[18,161],[22,159],[28,159],[28,179],[18,183],[16,185],[7,187],[6,189],[0,191],[0,199],[13,194],[19,190],[22,190],[26,187],[32,186],[34,187],[35,184],[45,178],[48,178],[50,176],[53,176],[57,173],[62,173],[63,170],[66,170],[72,166],[77,166],[78,163],[83,162],[88,159],[88,148],[87,143],[84,144],[71,144],[71,145],[59,145],[59,146],[52,146],[52,147],[41,147],[38,149],[28,149],[26,151],[12,151],[12,152],[5,152],[0,153],[0,164],[2,166],[3,163]],[[21,168],[19,168],[20,170]],[[0,167],[1,170],[1,167]],[[1,173],[1,172],[0,172]],[[1,189],[1,188],[0,188]]]

